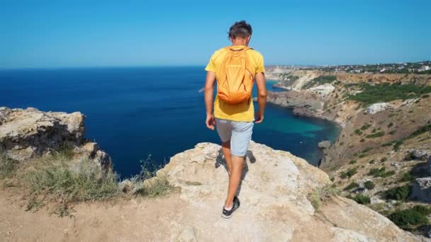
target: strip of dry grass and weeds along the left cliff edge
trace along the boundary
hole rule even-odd
[[[131,178],[128,188],[118,183],[112,167],[101,170],[100,164],[86,158],[74,159],[71,149],[59,149],[27,162],[17,162],[0,155],[0,185],[22,188],[26,210],[37,210],[47,204],[60,217],[71,215],[74,204],[105,201],[120,196],[164,195],[171,186],[163,176],[142,166]],[[133,188],[133,191],[130,189]]]

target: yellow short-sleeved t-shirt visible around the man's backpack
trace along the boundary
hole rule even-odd
[[[244,45],[235,45],[233,49],[240,49],[245,47]],[[220,50],[216,50],[213,56],[208,62],[208,65],[205,67],[206,71],[213,71],[217,67],[220,66],[220,62],[223,62],[226,55],[225,48],[221,48]],[[262,54],[257,52],[256,50],[247,50],[245,52],[249,57],[249,64],[251,71],[254,71],[253,76],[260,72],[265,72],[264,68],[264,57]],[[215,76],[217,78],[217,76]],[[214,116],[223,120],[233,120],[240,122],[253,122],[254,121],[254,106],[253,100],[250,98],[248,101],[237,104],[229,104],[225,103],[223,100],[220,100],[218,96],[215,96],[214,101]]]

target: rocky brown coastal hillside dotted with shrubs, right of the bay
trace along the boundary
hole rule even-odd
[[[271,79],[279,79],[279,85],[293,87],[292,91],[269,92],[269,103],[342,127],[335,142],[323,149],[319,163],[342,195],[386,216],[410,212],[415,206],[427,207],[431,155],[416,154],[431,154],[431,115],[427,111],[431,110],[431,98],[430,91],[411,93],[430,89],[431,75],[269,72]],[[363,99],[355,100],[364,91]],[[386,98],[385,91],[386,96],[395,97],[388,101],[375,98]],[[419,234],[431,234],[422,230],[424,226],[418,228]]]

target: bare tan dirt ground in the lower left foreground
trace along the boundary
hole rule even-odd
[[[50,215],[46,208],[26,212],[23,204],[18,195],[0,191],[0,241],[169,241],[165,224],[187,207],[179,193],[78,204],[74,218]]]

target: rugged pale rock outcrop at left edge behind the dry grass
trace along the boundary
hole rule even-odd
[[[111,164],[108,154],[84,138],[84,118],[79,112],[0,107],[0,153],[26,161],[67,147],[77,156],[86,156],[108,167]]]

